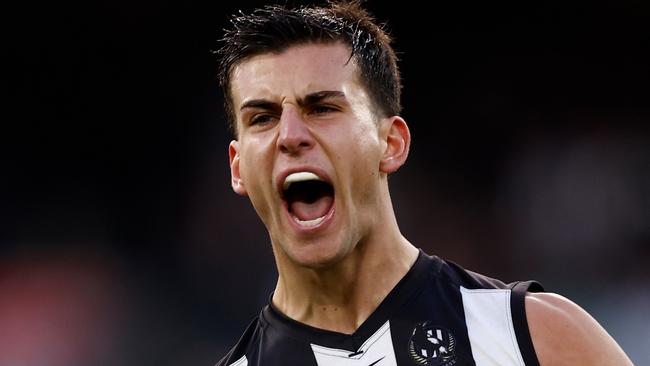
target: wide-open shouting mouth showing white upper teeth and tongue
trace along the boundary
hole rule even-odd
[[[312,172],[289,174],[282,196],[289,214],[302,227],[317,226],[334,207],[334,187]]]

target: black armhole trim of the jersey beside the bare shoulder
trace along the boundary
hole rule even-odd
[[[543,291],[544,288],[542,285],[536,281],[517,282],[512,287],[510,296],[512,322],[515,328],[519,350],[521,351],[526,366],[539,366],[533,340],[530,337],[528,320],[526,319],[526,293]]]

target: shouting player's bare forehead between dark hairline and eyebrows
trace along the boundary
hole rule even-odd
[[[284,100],[322,90],[360,92],[350,49],[342,43],[292,46],[281,53],[254,56],[231,76],[235,110],[248,99]]]

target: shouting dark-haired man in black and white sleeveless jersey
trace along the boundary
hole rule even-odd
[[[629,365],[580,307],[416,249],[388,175],[406,161],[390,39],[358,3],[233,18],[220,81],[232,187],[268,229],[271,302],[217,365]]]

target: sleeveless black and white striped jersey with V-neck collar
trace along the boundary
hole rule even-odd
[[[317,329],[262,309],[217,366],[539,365],[524,296],[420,251],[409,272],[354,334]]]

